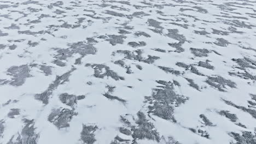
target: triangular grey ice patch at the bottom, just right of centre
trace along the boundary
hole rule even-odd
[[[158,131],[153,130],[155,129],[153,123],[148,122],[146,116],[142,112],[138,112],[137,116],[138,120],[136,121],[136,124],[138,124],[138,126],[136,128],[132,128],[133,139],[149,139],[159,142],[159,133]]]

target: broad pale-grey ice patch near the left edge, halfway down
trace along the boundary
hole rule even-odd
[[[10,85],[21,86],[25,83],[27,77],[31,77],[28,65],[12,66],[7,70],[7,75],[13,76],[9,81]]]

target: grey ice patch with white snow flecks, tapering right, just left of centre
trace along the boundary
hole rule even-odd
[[[105,76],[110,76],[116,81],[124,80],[124,77],[119,76],[117,73],[115,73],[115,71],[111,70],[108,66],[104,64],[86,64],[85,67],[93,68],[95,77],[103,79]]]

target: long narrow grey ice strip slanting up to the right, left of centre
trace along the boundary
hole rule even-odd
[[[56,89],[59,85],[62,85],[63,83],[69,81],[69,76],[71,73],[75,70],[75,68],[72,68],[67,73],[64,73],[61,76],[56,76],[55,80],[50,83],[48,89],[44,91],[43,93],[36,94],[34,97],[37,100],[40,100],[43,102],[43,104],[48,104],[51,94],[53,94],[54,89]]]

